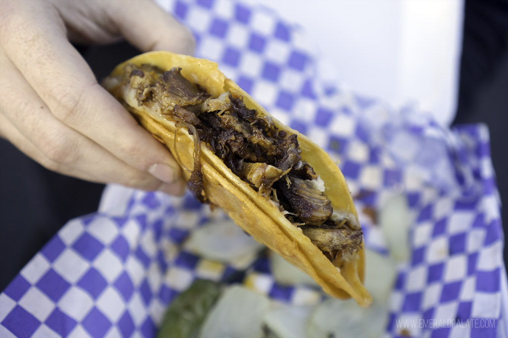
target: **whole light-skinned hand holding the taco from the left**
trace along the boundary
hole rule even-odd
[[[125,37],[192,54],[192,34],[149,0],[1,1],[0,136],[62,174],[181,195],[171,153],[94,78],[69,40]]]

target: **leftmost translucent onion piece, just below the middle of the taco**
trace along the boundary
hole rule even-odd
[[[203,224],[192,232],[185,248],[209,259],[233,263],[249,261],[264,245],[228,219]]]

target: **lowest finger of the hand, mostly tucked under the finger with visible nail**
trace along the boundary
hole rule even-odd
[[[62,124],[0,55],[0,133],[44,167],[95,182],[115,182],[180,195],[183,183],[166,184],[118,160],[90,139]]]

